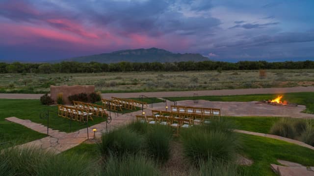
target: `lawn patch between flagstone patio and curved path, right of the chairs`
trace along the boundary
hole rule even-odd
[[[235,124],[238,130],[269,133],[270,128],[281,117],[222,117]]]

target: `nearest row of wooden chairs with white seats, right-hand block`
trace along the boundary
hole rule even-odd
[[[146,122],[153,125],[168,125],[169,127],[175,128],[177,130],[177,135],[179,134],[179,129],[190,128],[193,126],[191,119],[189,118],[174,118],[170,116],[154,116],[154,115],[136,115],[136,119],[141,122]]]

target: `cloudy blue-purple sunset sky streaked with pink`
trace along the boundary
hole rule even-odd
[[[0,61],[157,47],[215,61],[314,60],[314,0],[0,0]]]

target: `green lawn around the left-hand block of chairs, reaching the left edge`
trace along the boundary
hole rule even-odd
[[[52,110],[57,112],[57,106],[41,105],[39,100],[19,100],[19,99],[0,99],[0,122],[6,117],[17,117],[20,119],[29,119],[32,122],[41,123],[47,126],[47,119],[40,118],[39,114]],[[62,132],[74,132],[82,128],[86,128],[86,123],[58,117],[57,113],[50,112],[49,127]],[[94,121],[89,121],[88,126],[92,126],[105,121],[105,118],[94,117]],[[2,130],[2,128],[0,128]],[[21,133],[21,132],[18,132]],[[11,136],[11,134],[10,134]]]

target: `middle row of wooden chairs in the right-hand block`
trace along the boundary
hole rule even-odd
[[[198,114],[198,113],[180,113],[180,112],[171,112],[171,111],[163,111],[163,110],[152,110],[152,114],[155,117],[164,116],[164,117],[172,117],[172,118],[180,118],[180,119],[190,119],[192,124],[208,124],[210,120],[214,118],[212,115],[208,114]],[[218,120],[219,120],[218,116]]]

